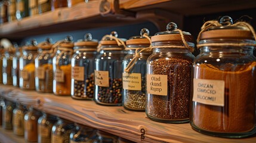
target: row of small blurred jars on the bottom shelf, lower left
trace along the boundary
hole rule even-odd
[[[13,133],[24,136],[26,142],[132,142],[124,138],[79,125],[47,113],[41,113],[33,107],[17,103],[16,105],[1,99],[2,128],[13,129]]]

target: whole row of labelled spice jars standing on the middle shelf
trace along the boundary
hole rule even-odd
[[[196,57],[192,35],[174,22],[149,35],[142,29],[127,41],[117,32],[100,42],[90,33],[76,42],[72,36],[54,44],[32,41],[22,55],[15,54],[18,48],[5,48],[10,54],[2,52],[1,82],[8,85],[13,77],[13,85],[21,89],[123,105],[145,111],[156,122],[190,122],[206,135],[243,138],[256,133],[256,35],[248,23],[233,23],[229,16],[208,21],[198,35]],[[8,63],[11,70],[5,69]]]

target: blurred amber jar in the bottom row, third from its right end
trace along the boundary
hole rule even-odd
[[[70,132],[73,128],[75,128],[75,125],[72,122],[58,118],[58,121],[53,125],[53,129],[51,130],[51,142],[69,142]]]

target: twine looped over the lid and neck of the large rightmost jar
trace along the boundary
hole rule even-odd
[[[203,24],[203,26],[201,27],[201,32],[199,32],[198,39],[196,40],[198,42],[197,47],[201,48],[202,46],[256,46],[255,43],[199,43],[203,32],[205,32],[211,27],[223,26],[223,24],[225,24],[224,26],[231,26],[231,27],[241,26],[246,30],[248,30],[249,32],[251,32],[254,40],[256,40],[255,39],[256,34],[251,24],[246,23],[245,21],[238,21],[233,24],[232,18],[230,18],[229,16],[224,16],[221,18],[220,22],[217,20],[210,20],[210,21],[206,21]]]

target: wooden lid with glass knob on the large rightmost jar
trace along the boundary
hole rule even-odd
[[[221,17],[217,26],[211,26],[201,33],[203,39],[254,39],[250,30],[243,26],[233,25],[229,16]]]

